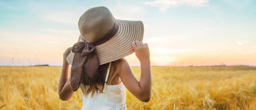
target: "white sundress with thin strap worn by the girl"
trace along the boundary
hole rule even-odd
[[[108,74],[110,71],[111,62],[107,69],[107,75],[103,92],[93,97],[92,92],[87,96],[82,93],[83,106],[81,110],[126,110],[125,104],[125,85],[121,83],[117,85],[107,85]],[[89,85],[86,85],[89,86]]]

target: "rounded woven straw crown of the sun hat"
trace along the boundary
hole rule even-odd
[[[115,18],[106,7],[88,9],[79,19],[78,28],[85,41],[93,42],[103,37],[115,24]]]

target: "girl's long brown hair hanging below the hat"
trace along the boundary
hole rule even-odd
[[[112,61],[110,71],[109,71],[109,76],[107,80],[107,85],[110,85],[112,80],[116,80],[118,82],[119,75],[118,72],[121,69],[121,63],[122,63],[122,58]],[[86,74],[82,74],[81,76],[81,81],[80,81],[80,87],[84,95],[88,95],[92,91],[92,96],[96,92],[98,94],[98,91],[100,93],[103,93],[104,85],[105,85],[105,80],[104,80],[104,74],[107,72],[109,63],[99,65],[99,75],[97,76],[97,80],[91,80]],[[89,87],[86,85],[89,85]]]

